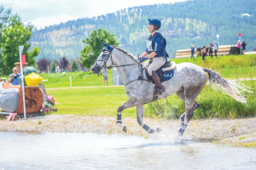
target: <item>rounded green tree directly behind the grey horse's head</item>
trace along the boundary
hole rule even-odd
[[[114,38],[114,34],[110,34],[106,29],[102,30],[102,28],[92,31],[90,38],[87,37],[82,42],[87,44],[87,46],[81,50],[80,54],[83,59],[83,65],[86,68],[90,68],[102,53],[102,48],[104,48],[102,42],[106,42],[109,45],[119,45],[117,39]]]

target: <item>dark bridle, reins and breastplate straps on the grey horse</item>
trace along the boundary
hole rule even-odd
[[[142,84],[143,81],[152,82],[152,81],[150,81],[150,80],[147,80],[147,79],[144,79],[144,78],[143,78],[143,70],[146,69],[147,66],[143,68],[143,65],[142,65],[141,63],[115,66],[115,65],[113,65],[112,52],[113,52],[113,47],[111,48],[111,50],[110,50],[108,56],[107,56],[105,59],[96,59],[96,60],[95,60],[95,65],[96,65],[96,67],[100,68],[100,70],[101,70],[102,67],[105,68],[105,69],[106,69],[106,68],[110,69],[110,68],[114,68],[114,67],[123,67],[123,66],[129,66],[129,65],[138,65],[138,69],[139,69],[139,71],[140,71],[140,75],[138,76],[137,79],[131,80],[130,82],[126,82],[126,83],[125,83],[125,86],[128,85],[129,83],[135,82],[135,81],[137,81],[139,84]],[[111,66],[107,66],[107,62],[108,62],[108,59],[109,59],[109,58],[111,59]],[[102,66],[97,65],[97,63],[96,63],[97,61],[103,61],[103,62],[104,62],[104,65],[102,65]]]

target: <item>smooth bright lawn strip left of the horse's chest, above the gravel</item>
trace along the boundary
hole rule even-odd
[[[119,105],[127,100],[124,87],[93,87],[46,89],[60,105],[57,114],[78,116],[116,116]],[[123,112],[125,116],[135,117],[135,108]]]

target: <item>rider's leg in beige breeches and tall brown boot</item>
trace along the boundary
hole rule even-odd
[[[161,93],[163,93],[166,89],[162,86],[160,82],[160,77],[157,76],[155,71],[157,71],[162,65],[165,65],[166,59],[164,57],[158,57],[155,58],[153,63],[148,66],[148,74],[152,79],[154,80],[154,83],[159,88],[159,92],[155,94],[155,96],[159,96]]]

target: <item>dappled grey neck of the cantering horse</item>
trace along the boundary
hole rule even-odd
[[[124,83],[130,82],[137,78],[139,74],[137,61],[131,59],[130,56],[124,54],[123,52],[119,51],[118,49],[113,50],[113,65],[128,65],[128,66],[121,66],[117,67],[119,71],[119,76],[122,78]],[[135,64],[135,65],[131,65]]]

